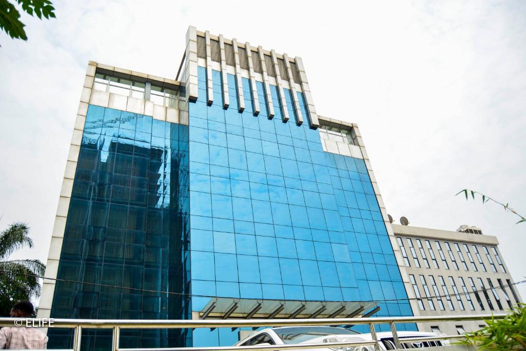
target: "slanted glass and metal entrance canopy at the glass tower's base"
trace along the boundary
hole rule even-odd
[[[211,318],[351,318],[379,308],[375,302],[331,302],[211,298],[199,319]],[[377,310],[375,311],[377,312]]]

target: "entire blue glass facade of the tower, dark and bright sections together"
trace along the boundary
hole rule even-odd
[[[324,152],[270,85],[260,113],[242,78],[221,75],[206,104],[205,68],[189,126],[89,105],[51,316],[189,319],[212,297],[374,301],[378,316],[412,315],[363,159]],[[304,96],[298,93],[304,118]],[[289,122],[282,122],[286,108]],[[82,282],[82,283],[73,283]],[[401,325],[414,329],[414,325]],[[383,326],[380,326],[383,330]],[[232,345],[239,329],[123,330],[121,347]],[[72,334],[49,330],[50,348]],[[104,349],[109,330],[85,330]]]

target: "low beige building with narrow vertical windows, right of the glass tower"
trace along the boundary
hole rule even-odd
[[[497,237],[468,226],[457,232],[396,224],[392,229],[415,316],[500,314],[521,301]],[[419,323],[418,327],[453,335],[477,330],[483,324]]]

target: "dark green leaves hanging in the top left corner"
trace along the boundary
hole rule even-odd
[[[55,7],[49,0],[16,0],[27,14],[42,19],[55,18]],[[20,21],[20,13],[14,4],[8,0],[0,0],[0,29],[3,29],[13,39],[27,40],[24,31],[25,24]]]

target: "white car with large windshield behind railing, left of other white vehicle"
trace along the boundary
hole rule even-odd
[[[266,328],[247,336],[234,346],[248,345],[285,345],[285,344],[321,344],[321,343],[345,343],[371,340],[363,337],[355,330],[306,326],[306,327],[276,327]],[[372,351],[373,346],[356,347],[326,347],[312,349],[314,351]]]

